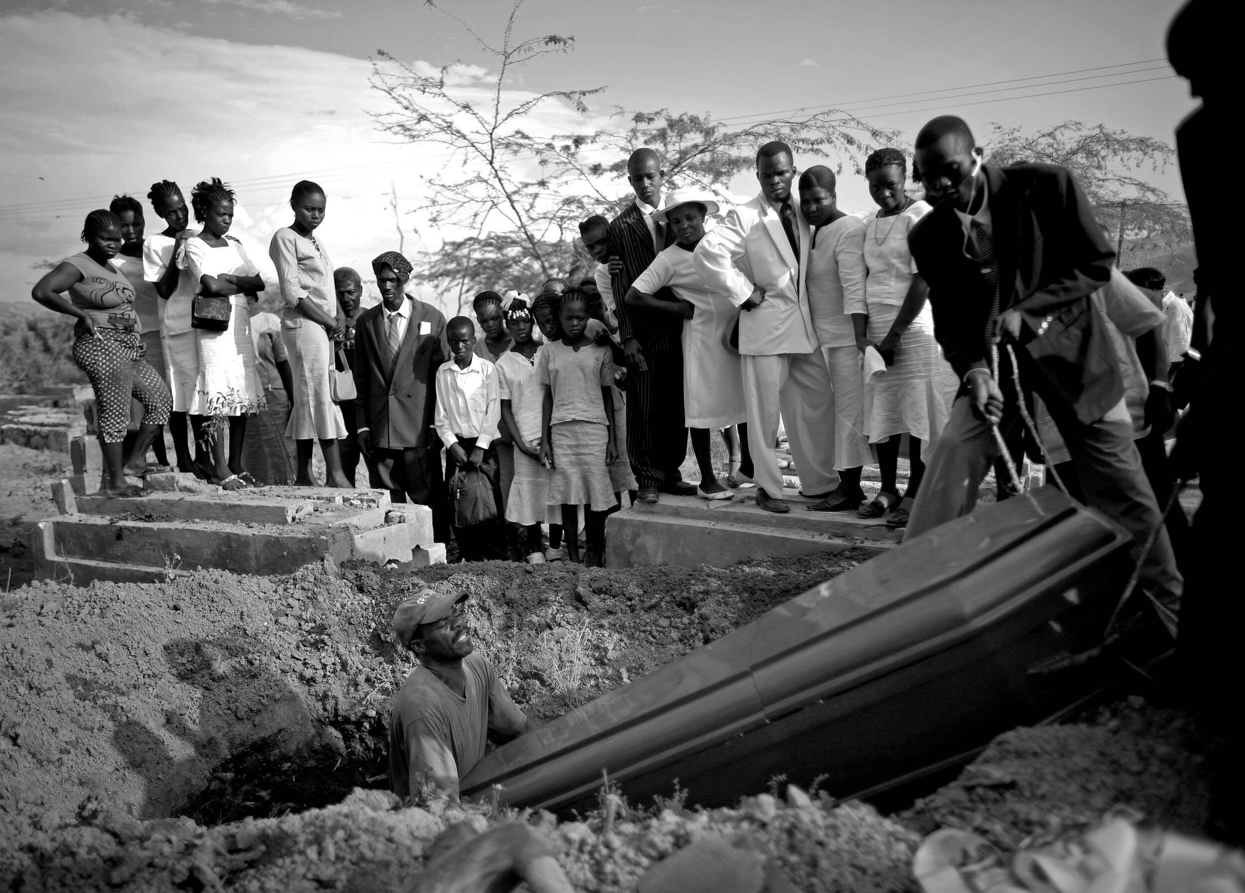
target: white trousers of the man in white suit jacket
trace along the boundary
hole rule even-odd
[[[834,389],[820,347],[812,354],[745,354],[741,359],[757,486],[767,496],[782,498],[782,472],[774,457],[781,412],[801,488],[812,496],[834,489],[839,483],[834,471]]]

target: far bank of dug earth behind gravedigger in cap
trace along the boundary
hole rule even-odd
[[[330,560],[274,578],[22,587],[0,599],[0,877],[49,832],[105,812],[218,824],[386,786],[388,699],[412,668],[388,620],[422,587],[473,595],[478,648],[548,719],[864,557],[641,570]]]

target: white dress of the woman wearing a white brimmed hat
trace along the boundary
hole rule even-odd
[[[722,344],[738,311],[727,295],[705,286],[693,257],[693,252],[671,245],[631,285],[649,295],[669,285],[696,308],[692,318],[684,321],[685,423],[691,428],[725,428],[747,421],[740,355]]]

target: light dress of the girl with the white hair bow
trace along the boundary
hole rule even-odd
[[[532,360],[513,350],[507,350],[497,357],[497,396],[499,400],[510,401],[510,412],[514,413],[519,436],[524,443],[532,446],[540,442],[544,407],[544,385],[537,375],[537,359],[542,350],[543,346],[538,347]],[[505,519],[524,527],[544,523],[549,519],[548,504],[549,470],[515,446],[514,478],[510,481],[510,494],[505,503]],[[558,517],[553,523],[560,524],[561,518]]]

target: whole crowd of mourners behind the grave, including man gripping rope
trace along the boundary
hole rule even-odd
[[[534,299],[498,284],[448,321],[407,291],[397,252],[372,260],[381,300],[365,310],[359,272],[316,237],[326,198],[308,181],[269,245],[275,295],[230,234],[220,179],[189,203],[153,184],[156,233],[129,196],[91,212],[86,249],[34,298],[77,320],[107,492],[141,496],[127,477],[172,466],[229,491],[311,486],[319,442],[326,486],[430,506],[464,560],[579,562],[583,533],[600,565],[605,518],[627,502],[749,488],[789,512],[784,428],[799,506],[911,534],[971,511],[991,468],[1000,496],[1018,489],[1028,455],[1129,528],[1144,583],[1179,594],[1179,509],[1142,547],[1173,492],[1164,436],[1193,313],[1159,270],[1116,268],[1066,169],[984,163],[950,116],[916,136],[911,168],[898,148],[868,156],[878,207],[863,218],[783,142],[758,148],[759,194],[737,207],[669,189],[652,149],[626,169],[634,201],[579,227],[593,275]],[[680,472],[688,438],[696,483]]]

